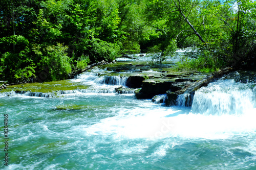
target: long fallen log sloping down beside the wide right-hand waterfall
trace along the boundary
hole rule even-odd
[[[207,77],[205,77],[199,81],[191,83],[188,87],[185,87],[178,91],[172,92],[172,91],[168,90],[166,92],[166,94],[167,94],[166,105],[167,106],[176,105],[177,104],[176,100],[178,98],[178,95],[181,95],[181,94],[190,95],[190,99],[186,99],[186,100],[192,101],[193,99],[191,99],[191,98],[193,98],[193,94],[195,93],[195,91],[197,89],[199,89],[202,86],[206,86],[208,83],[210,83],[211,81],[214,81],[215,79],[221,78],[224,74],[227,74],[230,71],[232,71],[232,68],[226,67],[218,72],[214,72],[213,74],[208,75]],[[191,102],[189,102],[189,103],[190,103],[189,105],[191,105]]]

